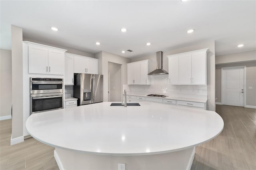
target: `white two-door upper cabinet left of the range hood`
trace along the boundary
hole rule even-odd
[[[127,64],[128,85],[150,85],[150,61],[142,60]]]

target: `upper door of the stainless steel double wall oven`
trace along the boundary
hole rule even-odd
[[[63,82],[30,81],[30,94],[63,93]]]

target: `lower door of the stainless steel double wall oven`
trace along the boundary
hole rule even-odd
[[[59,95],[32,95],[30,97],[30,115],[56,109],[63,109],[63,93]]]

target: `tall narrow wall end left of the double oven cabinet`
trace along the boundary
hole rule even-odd
[[[23,136],[22,28],[12,29],[12,139]],[[11,139],[11,144],[12,144]]]

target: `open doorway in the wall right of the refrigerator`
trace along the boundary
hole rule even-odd
[[[108,62],[108,101],[122,101],[121,94],[121,64]]]

